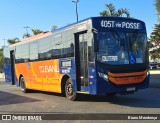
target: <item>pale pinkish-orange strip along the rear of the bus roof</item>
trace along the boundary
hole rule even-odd
[[[43,33],[40,33],[40,34],[37,34],[37,35],[34,35],[34,36],[31,36],[29,38],[26,38],[18,43],[15,43],[15,44],[12,44],[10,45],[9,47],[14,47],[14,46],[17,46],[17,45],[20,45],[20,44],[24,44],[26,42],[31,42],[33,40],[37,40],[37,39],[40,39],[40,38],[43,38],[43,37],[46,37],[46,36],[49,36],[51,35],[52,32],[43,32]]]

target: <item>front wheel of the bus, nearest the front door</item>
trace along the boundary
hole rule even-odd
[[[77,100],[77,94],[74,92],[72,80],[69,78],[65,84],[66,97],[72,101]]]

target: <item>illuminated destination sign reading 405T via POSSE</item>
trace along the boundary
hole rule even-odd
[[[104,27],[104,28],[141,29],[141,23],[139,23],[139,22],[127,22],[127,21],[101,20],[101,27]]]

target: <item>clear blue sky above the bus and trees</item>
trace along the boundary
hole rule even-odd
[[[148,37],[158,23],[154,0],[79,0],[79,20],[99,16],[109,3],[116,9],[127,8],[131,17],[144,21]],[[23,40],[26,26],[32,34],[31,29],[51,31],[53,25],[60,28],[74,23],[75,10],[72,0],[0,0],[0,47],[8,39]]]

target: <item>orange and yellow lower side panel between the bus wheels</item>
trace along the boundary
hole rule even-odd
[[[59,60],[16,64],[17,78],[21,74],[28,89],[61,93],[63,74],[59,73]]]

